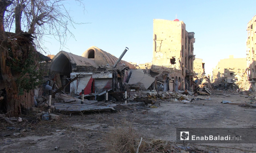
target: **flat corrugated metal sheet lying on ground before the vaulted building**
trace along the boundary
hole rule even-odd
[[[93,105],[85,105],[85,104],[54,104],[57,111],[60,112],[77,112],[77,111],[94,111],[94,110],[105,110],[105,109],[112,109],[115,110],[113,107],[107,106],[93,106]]]

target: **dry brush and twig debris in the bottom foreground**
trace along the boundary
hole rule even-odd
[[[122,128],[115,127],[105,137],[106,148],[110,152],[119,153],[189,153],[207,151],[190,146],[187,144],[177,144],[175,142],[164,141],[161,139],[143,139],[131,125],[123,125]],[[137,152],[136,152],[137,151]]]

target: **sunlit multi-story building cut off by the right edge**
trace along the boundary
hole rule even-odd
[[[251,84],[251,89],[255,91],[256,86],[256,62],[255,62],[255,49],[256,49],[256,15],[247,24],[247,41],[246,41],[246,60],[247,71],[246,76]],[[254,37],[254,39],[253,39]]]

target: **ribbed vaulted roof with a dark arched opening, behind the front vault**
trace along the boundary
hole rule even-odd
[[[88,51],[89,50],[91,50],[91,49],[93,49],[94,51],[95,51],[95,53],[96,52],[100,52],[100,54],[97,54],[97,55],[99,55],[99,56],[101,56],[101,57],[99,57],[99,56],[95,56],[95,59],[94,59],[94,62],[96,62],[97,63],[97,60],[100,60],[100,58],[103,58],[103,60],[104,61],[107,61],[107,63],[110,65],[110,66],[113,66],[115,63],[116,63],[116,61],[117,61],[117,57],[116,56],[114,56],[114,55],[111,55],[110,53],[108,53],[108,52],[106,52],[106,51],[104,51],[104,50],[102,50],[102,49],[100,49],[100,48],[98,48],[98,47],[96,47],[96,46],[92,46],[92,47],[90,47],[90,48],[88,48],[83,54],[82,54],[82,56],[83,57],[87,57],[88,56]],[[120,54],[121,55],[121,54]],[[97,59],[97,58],[99,58],[99,59]],[[137,69],[135,66],[133,66],[131,63],[129,63],[129,62],[126,62],[126,61],[123,61],[123,60],[121,60],[120,61],[120,63],[122,63],[122,64],[125,64],[126,66],[128,66],[130,69]],[[99,63],[97,63],[98,65],[99,65]]]

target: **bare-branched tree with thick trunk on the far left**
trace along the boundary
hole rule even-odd
[[[74,1],[83,7],[80,0]],[[68,27],[82,24],[76,23],[69,16],[69,11],[65,8],[66,2],[0,0],[1,73],[6,90],[7,111],[11,116],[18,116],[21,113],[18,99],[19,81],[21,77],[29,77],[29,72],[25,69],[36,64],[35,53],[38,50],[42,51],[40,45],[43,43],[44,35],[53,35],[61,45],[64,45],[67,37],[73,36]],[[31,60],[34,63],[31,63]]]

